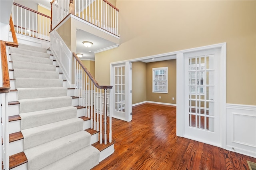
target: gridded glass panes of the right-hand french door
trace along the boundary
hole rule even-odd
[[[213,57],[214,55],[207,55],[189,58],[188,71],[189,125],[212,132],[214,131]]]

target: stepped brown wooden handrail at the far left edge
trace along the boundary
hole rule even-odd
[[[3,87],[0,87],[0,93],[9,93],[10,92],[10,77],[9,77],[9,69],[8,69],[8,59],[6,54],[6,45],[11,47],[18,47],[18,40],[16,37],[16,33],[14,30],[14,25],[12,22],[12,16],[10,16],[10,27],[12,32],[13,42],[6,42],[0,40],[1,43],[1,63],[2,63],[2,79],[3,79]]]

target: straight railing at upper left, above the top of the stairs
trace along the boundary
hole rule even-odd
[[[50,41],[50,16],[14,2],[12,17],[16,33]]]

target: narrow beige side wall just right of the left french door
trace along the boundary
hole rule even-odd
[[[132,104],[147,100],[146,68],[146,63],[141,61],[132,63]]]

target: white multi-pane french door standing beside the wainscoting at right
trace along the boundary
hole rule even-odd
[[[184,54],[184,137],[221,146],[220,49]]]

